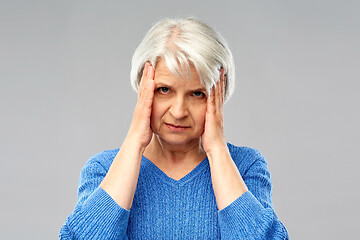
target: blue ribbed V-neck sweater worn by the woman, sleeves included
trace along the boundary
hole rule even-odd
[[[252,148],[228,147],[249,191],[220,211],[207,158],[176,181],[143,157],[127,210],[99,187],[119,149],[94,155],[81,170],[78,201],[60,239],[288,239],[273,209],[265,158]]]

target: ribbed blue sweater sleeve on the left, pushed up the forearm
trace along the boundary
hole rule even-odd
[[[78,201],[62,226],[59,239],[127,239],[130,210],[99,187],[107,171],[90,159],[81,170]]]

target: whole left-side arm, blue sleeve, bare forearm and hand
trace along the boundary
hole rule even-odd
[[[60,231],[61,239],[126,239],[142,154],[152,137],[150,116],[154,69],[146,64],[128,134],[109,171],[87,164],[80,177],[79,201]]]

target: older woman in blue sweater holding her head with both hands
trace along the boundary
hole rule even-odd
[[[234,90],[225,40],[194,19],[163,19],[132,59],[138,92],[120,149],[91,157],[61,239],[287,239],[259,151],[226,142]]]

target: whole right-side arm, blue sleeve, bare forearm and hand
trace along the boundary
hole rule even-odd
[[[259,153],[241,176],[226,145],[223,128],[224,70],[207,101],[202,145],[208,156],[221,238],[288,239],[288,233],[272,209],[271,180]],[[254,161],[256,159],[256,161]]]

